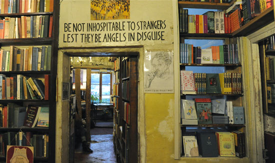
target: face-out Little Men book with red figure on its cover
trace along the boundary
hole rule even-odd
[[[195,102],[198,124],[211,124],[211,102]]]

